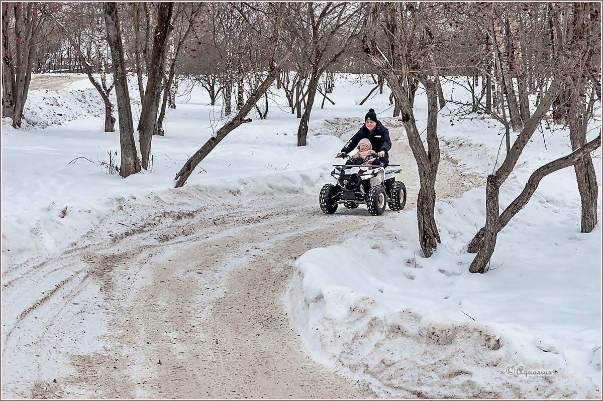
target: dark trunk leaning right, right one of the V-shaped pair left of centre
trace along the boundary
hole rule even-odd
[[[172,30],[170,23],[174,3],[161,2],[157,15],[157,25],[153,35],[153,51],[151,53],[151,68],[147,81],[145,97],[142,99],[142,110],[137,131],[140,135],[140,154],[142,168],[147,170],[151,156],[151,140],[157,132],[157,109],[161,81],[165,73],[165,55],[168,51],[168,37]]]

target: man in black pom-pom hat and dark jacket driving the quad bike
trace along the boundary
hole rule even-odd
[[[388,151],[391,149],[390,131],[377,120],[377,114],[372,108],[368,109],[368,113],[364,116],[364,126],[356,132],[335,157],[343,157],[349,154],[365,138],[370,141],[372,149],[377,152],[377,158],[372,164],[387,167],[390,164],[390,156],[388,155]]]

